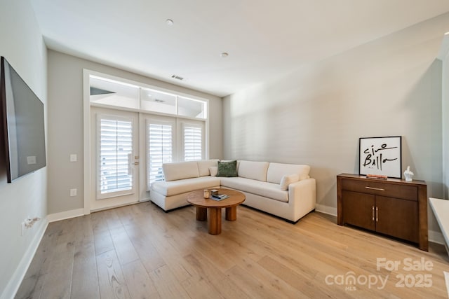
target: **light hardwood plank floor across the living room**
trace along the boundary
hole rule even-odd
[[[293,225],[239,206],[209,235],[194,207],[143,202],[50,223],[16,298],[448,298],[443,271],[443,246],[427,253],[317,212]]]

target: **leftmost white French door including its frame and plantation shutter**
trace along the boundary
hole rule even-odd
[[[139,115],[91,107],[91,211],[139,201]]]

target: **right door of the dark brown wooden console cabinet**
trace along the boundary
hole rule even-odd
[[[418,202],[376,196],[376,231],[418,242]]]

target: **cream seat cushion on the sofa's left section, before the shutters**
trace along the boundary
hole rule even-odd
[[[164,196],[173,196],[194,190],[220,186],[220,178],[215,176],[201,176],[193,179],[180,179],[177,181],[155,181],[152,190]]]

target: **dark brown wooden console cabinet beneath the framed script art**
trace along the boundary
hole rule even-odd
[[[416,243],[429,250],[424,181],[337,176],[337,224],[354,225]]]

